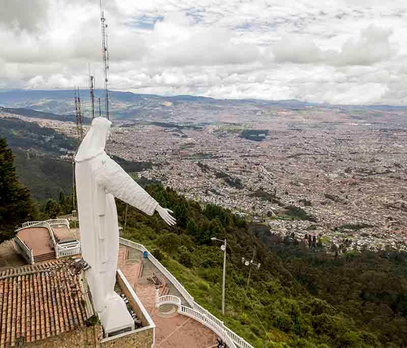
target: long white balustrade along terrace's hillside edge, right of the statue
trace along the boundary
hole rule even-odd
[[[223,322],[216,318],[215,315],[211,314],[210,312],[208,312],[208,310],[197,304],[194,301],[194,298],[186,291],[182,284],[163,265],[161,265],[161,263],[153,255],[150,254],[149,250],[147,250],[144,245],[132,242],[131,240],[124,238],[119,238],[119,241],[123,245],[130,246],[142,252],[147,251],[149,260],[177,288],[177,290],[182,294],[182,296],[184,296],[184,298],[187,300],[192,308],[182,305],[181,299],[173,295],[165,295],[161,297],[156,296],[157,307],[163,304],[178,305],[178,312],[180,314],[187,315],[188,317],[191,317],[194,320],[210,328],[226,343],[229,348],[253,348],[250,343],[246,342],[242,337],[224,326]]]

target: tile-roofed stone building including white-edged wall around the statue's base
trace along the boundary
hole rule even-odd
[[[120,271],[115,291],[127,301],[136,329],[104,332],[87,269],[83,259],[71,258],[0,270],[0,348],[151,347],[155,325]]]

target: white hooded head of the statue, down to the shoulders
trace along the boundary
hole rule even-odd
[[[110,132],[111,122],[104,117],[94,118],[91,129],[82,140],[75,162],[83,162],[101,154],[105,150],[106,140]]]

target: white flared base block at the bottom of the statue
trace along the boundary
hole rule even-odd
[[[114,333],[134,330],[134,320],[127,310],[126,303],[116,293],[108,301],[108,307],[99,314],[106,337],[111,337]]]

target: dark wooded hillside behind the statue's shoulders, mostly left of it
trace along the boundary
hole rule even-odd
[[[44,203],[49,198],[59,199],[63,192],[72,191],[72,162],[61,160],[61,155],[73,153],[77,140],[66,137],[37,122],[18,118],[0,118],[0,138],[7,140],[13,150],[14,165],[19,180],[31,189],[33,198]],[[151,162],[130,162],[113,156],[127,172],[140,172],[152,167]]]

